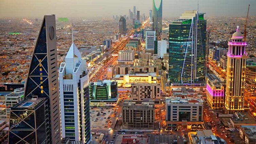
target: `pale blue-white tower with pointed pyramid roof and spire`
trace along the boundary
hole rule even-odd
[[[59,91],[62,138],[89,144],[92,139],[89,75],[86,65],[86,60],[81,58],[80,51],[72,43],[65,62],[60,64]]]

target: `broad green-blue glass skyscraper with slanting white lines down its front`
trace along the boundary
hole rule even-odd
[[[196,83],[205,80],[205,63],[197,10],[185,11],[169,25],[169,80]]]

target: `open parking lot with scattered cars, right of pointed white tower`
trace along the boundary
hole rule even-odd
[[[109,130],[114,124],[113,118],[116,108],[97,107],[91,108],[91,128],[92,130]]]

